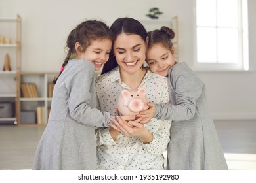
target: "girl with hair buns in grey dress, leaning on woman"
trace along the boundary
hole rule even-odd
[[[228,169],[207,109],[205,84],[186,63],[178,63],[168,27],[148,32],[146,62],[153,73],[169,79],[169,104],[148,103],[137,117],[172,120],[167,169]]]

